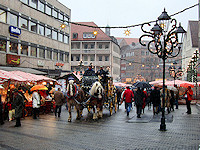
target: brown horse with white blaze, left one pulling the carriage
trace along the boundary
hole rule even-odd
[[[80,119],[82,116],[83,105],[82,102],[84,101],[84,91],[74,83],[73,80],[69,81],[67,85],[67,106],[69,112],[68,122],[71,122],[72,115],[71,115],[71,107],[75,106],[77,111],[76,119]]]

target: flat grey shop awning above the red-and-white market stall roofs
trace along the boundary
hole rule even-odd
[[[21,68],[21,67],[7,67],[7,66],[0,66],[0,70],[5,70],[5,71],[23,71],[26,73],[32,73],[36,75],[46,75],[46,72],[42,72],[36,69],[32,68]]]

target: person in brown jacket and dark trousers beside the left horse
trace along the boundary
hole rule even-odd
[[[58,91],[55,92],[54,100],[55,100],[55,104],[56,104],[55,116],[57,117],[57,110],[58,110],[58,117],[60,117],[62,105],[64,103],[64,95],[61,92],[60,88],[58,88]]]

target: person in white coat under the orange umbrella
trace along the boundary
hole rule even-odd
[[[32,95],[32,101],[33,101],[33,119],[37,119],[37,116],[39,117],[40,113],[40,95],[38,94],[38,91],[35,90]]]

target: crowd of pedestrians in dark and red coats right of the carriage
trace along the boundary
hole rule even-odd
[[[169,90],[167,86],[165,86],[165,92],[163,92],[163,89],[160,89],[158,87],[154,87],[153,90],[140,87],[138,87],[136,90],[131,90],[130,87],[126,87],[125,89],[118,88],[117,100],[120,104],[125,102],[125,111],[127,112],[127,116],[129,116],[131,108],[133,108],[133,103],[134,106],[136,106],[137,118],[141,118],[141,114],[144,113],[145,106],[150,109],[151,105],[153,105],[153,115],[159,114],[159,112],[162,111],[162,108],[166,108],[166,111],[169,114],[171,111],[174,111],[174,106],[176,109],[178,109],[178,100],[180,96],[179,90],[176,85],[175,87],[177,90],[174,91]],[[164,101],[163,94],[165,94]],[[191,114],[190,103],[192,100],[193,91],[190,86],[188,86],[183,95],[184,96],[181,98],[186,100],[186,113]]]

